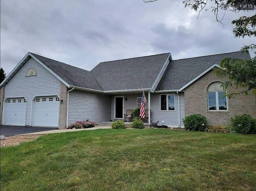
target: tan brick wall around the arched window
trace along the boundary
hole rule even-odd
[[[212,82],[226,82],[228,78],[218,78],[211,70],[184,89],[185,116],[193,113],[204,115],[210,125],[227,124],[234,115],[249,114],[256,117],[256,96],[238,95],[228,99],[228,111],[208,111],[207,88]],[[231,86],[230,90],[235,87]],[[239,91],[239,90],[236,90]]]

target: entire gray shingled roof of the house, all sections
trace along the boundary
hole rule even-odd
[[[54,72],[63,83],[66,83],[66,86],[76,86],[100,92],[152,90],[154,89],[152,88],[153,85],[156,87],[158,84],[156,82],[159,82],[162,74],[164,75],[156,87],[157,91],[180,90],[204,74],[205,71],[214,67],[214,64],[220,64],[223,58],[251,59],[249,53],[231,52],[171,60],[170,53],[164,53],[101,62],[91,71],[87,71],[34,53],[28,53],[1,83],[1,86],[8,83],[23,66],[22,64],[32,56]],[[169,60],[170,63],[168,64]],[[163,72],[163,68],[166,68],[165,72]]]

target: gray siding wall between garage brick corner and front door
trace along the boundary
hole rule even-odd
[[[68,104],[68,124],[86,119],[96,123],[111,119],[111,96],[73,90]]]

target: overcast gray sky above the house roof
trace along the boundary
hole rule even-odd
[[[234,38],[231,21],[184,8],[182,0],[1,0],[0,64],[9,74],[28,53],[91,70],[98,63],[166,52],[173,59],[221,54],[256,44]],[[252,56],[252,54],[251,54]]]

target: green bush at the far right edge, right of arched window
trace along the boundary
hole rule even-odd
[[[256,133],[256,119],[251,115],[235,115],[230,121],[236,133]]]

